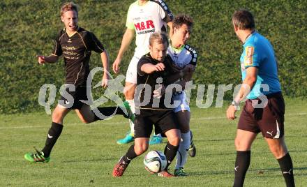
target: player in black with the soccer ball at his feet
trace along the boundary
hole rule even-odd
[[[168,140],[164,150],[167,167],[177,154],[180,131],[177,127],[178,122],[174,117],[174,112],[172,108],[165,105],[165,94],[156,97],[156,93],[153,93],[153,91],[148,92],[145,88],[149,85],[148,88],[155,89],[158,80],[160,80],[158,83],[167,85],[167,82],[165,82],[166,77],[170,82],[174,82],[171,80],[171,76],[178,80],[182,73],[186,72],[186,70],[183,70],[181,73],[176,73],[172,69],[172,59],[166,54],[168,44],[165,33],[153,33],[149,38],[150,53],[144,55],[137,63],[135,108],[140,113],[135,116],[135,144],[128,149],[127,153],[119,160],[119,163],[115,165],[113,169],[114,177],[121,177],[130,160],[147,151],[153,124],[155,125],[155,130],[160,130],[159,132],[165,134]],[[150,96],[146,93],[150,93]],[[172,92],[168,94],[170,94],[169,97],[172,96]],[[150,99],[146,104],[144,100],[148,100],[148,97]],[[156,98],[160,98],[160,100],[156,102]],[[160,177],[173,177],[172,174],[167,172],[167,167],[158,173]]]

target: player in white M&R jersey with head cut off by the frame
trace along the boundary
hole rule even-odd
[[[167,24],[172,28],[173,15],[163,0],[148,1],[138,0],[132,3],[128,10],[126,21],[126,32],[123,34],[121,48],[117,54],[117,59],[113,63],[114,73],[119,73],[119,66],[123,53],[128,50],[128,46],[133,40],[136,33],[136,48],[133,58],[131,59],[126,73],[126,84],[123,91],[126,101],[128,101],[131,109],[134,111],[134,93],[137,83],[137,62],[140,58],[149,52],[149,37],[157,31],[165,31]],[[172,33],[172,31],[171,31]],[[117,141],[118,144],[126,144],[133,141],[134,124],[130,121],[130,133],[122,140]]]

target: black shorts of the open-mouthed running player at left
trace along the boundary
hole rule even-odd
[[[80,101],[80,100],[88,100],[86,86],[78,86],[75,88],[75,91],[68,91],[68,88],[66,88],[66,91],[70,94],[70,96],[73,97],[73,100],[70,100],[70,99],[67,99],[61,96],[61,100],[64,100],[65,105],[61,105],[60,103],[59,105],[66,107],[68,109],[72,109],[72,110],[75,110],[75,109],[80,110],[83,105],[86,105]],[[71,102],[73,102],[73,105],[71,104]]]

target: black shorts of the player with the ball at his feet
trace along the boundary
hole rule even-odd
[[[163,136],[167,130],[179,129],[172,110],[141,109],[135,117],[135,138],[150,137],[153,124],[156,134],[161,133]]]

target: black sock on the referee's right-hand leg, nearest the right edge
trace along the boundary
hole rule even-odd
[[[280,166],[280,170],[283,173],[283,177],[285,178],[285,184],[287,187],[295,186],[293,165],[290,154],[287,153],[285,156],[283,156],[283,158],[279,158],[277,160]]]

